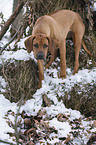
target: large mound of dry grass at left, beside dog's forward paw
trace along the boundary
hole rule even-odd
[[[17,102],[32,98],[38,88],[38,67],[33,60],[6,62],[3,75],[8,83],[5,97]]]

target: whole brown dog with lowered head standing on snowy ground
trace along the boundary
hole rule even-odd
[[[47,52],[51,53],[49,63],[45,66],[48,68],[57,57],[57,48],[60,50],[60,77],[66,78],[66,37],[69,31],[73,32],[73,42],[75,49],[74,72],[78,72],[79,67],[79,52],[81,44],[87,50],[83,39],[85,26],[81,17],[70,10],[60,10],[51,15],[40,17],[33,28],[32,36],[25,41],[27,51],[34,51],[34,55],[38,61],[39,68],[39,86],[42,86],[43,66],[46,60]],[[92,55],[91,55],[92,56]]]

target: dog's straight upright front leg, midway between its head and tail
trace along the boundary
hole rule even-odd
[[[66,40],[60,43],[60,78],[66,78]]]

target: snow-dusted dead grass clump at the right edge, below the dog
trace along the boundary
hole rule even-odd
[[[79,110],[86,117],[96,119],[96,84],[75,84],[70,92],[63,96],[67,108]]]

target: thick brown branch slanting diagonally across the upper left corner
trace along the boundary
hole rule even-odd
[[[0,32],[0,40],[2,39],[2,37],[4,36],[4,34],[6,33],[6,31],[8,30],[9,26],[15,20],[15,18],[17,17],[17,15],[19,14],[19,12],[23,8],[23,6],[24,6],[24,1],[21,0],[21,2],[18,4],[17,8],[15,9],[14,13],[10,16],[10,18],[7,20],[7,22],[5,23],[4,27],[2,28],[2,30]]]

